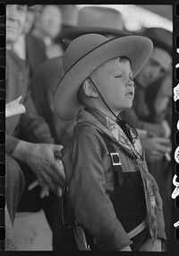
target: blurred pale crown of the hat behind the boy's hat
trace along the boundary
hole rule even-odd
[[[102,6],[85,6],[81,8],[78,16],[78,27],[104,28],[123,30],[124,22],[122,13]]]

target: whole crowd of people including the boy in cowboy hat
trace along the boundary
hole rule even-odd
[[[92,251],[171,250],[172,38],[108,7],[7,4],[6,102],[26,112],[6,119],[6,250],[39,209],[53,250],[78,250],[64,195]]]

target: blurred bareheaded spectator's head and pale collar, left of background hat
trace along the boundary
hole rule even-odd
[[[55,42],[62,28],[62,13],[58,5],[42,5],[36,16],[36,21],[31,34],[44,41],[48,58],[62,56],[63,46]]]

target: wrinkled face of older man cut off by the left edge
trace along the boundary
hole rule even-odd
[[[7,4],[6,6],[6,41],[13,43],[21,35],[26,19],[27,5]]]

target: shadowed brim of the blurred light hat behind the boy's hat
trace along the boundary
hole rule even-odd
[[[98,28],[98,27],[73,27],[73,28],[64,28],[62,31],[62,37],[74,40],[77,37],[80,37],[83,34],[97,33],[101,35],[112,35],[114,37],[121,37],[133,34],[128,31],[112,30],[107,28]]]

